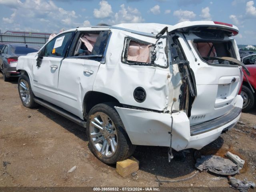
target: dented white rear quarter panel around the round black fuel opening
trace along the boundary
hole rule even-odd
[[[156,64],[133,64],[124,62],[126,39],[132,38],[149,44],[156,44],[149,38],[126,31],[112,29],[111,39],[106,52],[106,64],[101,64],[97,72],[93,90],[116,98],[120,103],[163,111],[168,105],[168,81],[172,74],[163,60],[161,67]],[[118,40],[118,41],[117,41]],[[161,62],[159,61],[159,63]],[[146,91],[146,100],[136,102],[133,92],[137,87]],[[179,90],[178,90],[179,91]],[[167,94],[166,94],[167,93]]]

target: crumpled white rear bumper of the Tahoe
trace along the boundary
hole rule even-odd
[[[115,107],[120,115],[126,132],[135,145],[170,146],[172,118],[168,113],[157,113],[130,108]],[[237,96],[230,114],[211,120],[208,124],[199,124],[200,132],[190,132],[190,122],[184,112],[173,113],[172,148],[180,151],[186,148],[201,149],[216,140],[222,131],[232,128],[239,120],[242,109],[242,97]],[[226,120],[226,122],[225,122]],[[201,127],[201,129],[200,129]],[[203,129],[202,129],[203,128]]]

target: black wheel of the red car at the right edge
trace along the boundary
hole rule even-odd
[[[252,109],[255,105],[255,95],[252,92],[252,90],[250,88],[248,88],[247,86],[243,85],[240,95],[244,99],[242,111],[246,112],[246,111]]]

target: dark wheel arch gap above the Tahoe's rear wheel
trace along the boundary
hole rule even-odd
[[[89,91],[85,94],[84,100],[83,100],[83,116],[84,119],[86,119],[89,111],[93,106],[96,104],[104,103],[104,102],[117,102],[120,104],[120,102],[113,96],[97,92],[97,91]]]

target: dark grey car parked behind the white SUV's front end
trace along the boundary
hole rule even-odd
[[[38,52],[40,47],[27,44],[2,44],[0,49],[0,70],[4,81],[10,77],[19,77],[20,72],[16,71],[18,57],[31,52]]]

